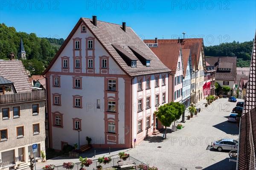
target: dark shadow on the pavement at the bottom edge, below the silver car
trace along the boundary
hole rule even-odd
[[[236,170],[236,162],[229,161],[229,158],[226,158],[222,161],[212,164],[209,167],[204,168],[203,170]]]

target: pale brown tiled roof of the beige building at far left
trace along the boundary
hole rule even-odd
[[[17,93],[31,91],[32,85],[20,60],[0,60],[0,76],[13,82]]]

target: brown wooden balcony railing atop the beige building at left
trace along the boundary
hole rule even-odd
[[[0,104],[27,102],[45,99],[44,91],[0,95]]]

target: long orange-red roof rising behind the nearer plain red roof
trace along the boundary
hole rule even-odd
[[[155,40],[144,40],[145,43],[155,43]],[[202,48],[204,48],[204,40],[203,38],[189,38],[189,39],[167,39],[167,40],[157,40],[158,45],[159,44],[165,44],[165,43],[180,43],[181,48],[189,48],[191,51],[191,55],[194,54],[196,57],[196,63],[199,65],[199,59],[201,51],[203,51]],[[204,52],[202,52],[204,55]],[[194,63],[194,62],[193,62]],[[192,65],[194,66],[194,65]],[[205,66],[205,64],[204,64]],[[204,67],[205,68],[205,67]],[[197,69],[197,67],[196,67]]]

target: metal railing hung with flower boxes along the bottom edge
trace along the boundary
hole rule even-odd
[[[129,156],[127,159],[123,160],[120,158],[111,158],[111,161],[107,164],[99,164],[98,159],[93,160],[93,163],[89,165],[89,167],[84,167],[86,170],[97,170],[97,166],[101,165],[102,168],[110,168],[110,167],[117,167],[118,166],[118,161],[134,161],[136,165],[139,164],[144,164],[142,161],[139,161],[138,159],[135,159],[132,156]],[[78,162],[74,165],[73,170],[79,170],[81,168],[81,163]],[[46,169],[40,169],[40,170],[46,170]],[[65,166],[56,166],[54,170],[66,170]]]

